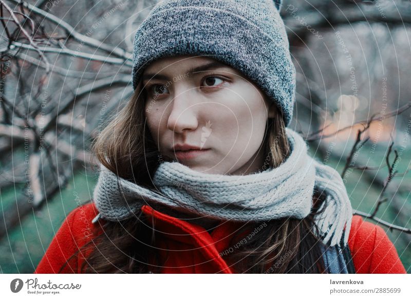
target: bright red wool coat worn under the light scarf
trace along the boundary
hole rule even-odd
[[[232,232],[236,230],[233,222],[225,222],[209,233],[198,225],[160,213],[148,205],[143,205],[142,212],[154,220],[155,229],[161,232],[156,234],[156,247],[163,262],[162,273],[233,273],[224,255],[219,254],[228,249]],[[71,211],[34,273],[58,273],[66,259],[91,237],[103,233],[99,222],[91,223],[97,214],[92,202]],[[352,219],[348,247],[356,273],[406,273],[384,230],[358,215]],[[166,248],[170,250],[167,259]],[[72,259],[63,273],[78,273],[82,261],[81,258]]]

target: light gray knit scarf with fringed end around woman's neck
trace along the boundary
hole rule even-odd
[[[110,221],[136,217],[144,204],[214,220],[303,219],[311,211],[315,187],[327,201],[325,211],[314,218],[320,237],[334,246],[344,236],[347,245],[352,209],[341,176],[311,158],[304,139],[286,130],[291,149],[287,159],[278,167],[248,175],[203,174],[176,161],[162,162],[153,177],[157,190],[152,191],[101,166],[93,198],[100,214],[93,222],[99,217]]]

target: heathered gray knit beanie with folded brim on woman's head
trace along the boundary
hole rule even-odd
[[[282,0],[165,0],[136,32],[133,88],[154,60],[207,55],[248,77],[277,104],[289,125],[295,67],[279,10]]]

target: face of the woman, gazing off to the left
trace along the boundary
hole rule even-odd
[[[147,125],[164,160],[224,175],[263,166],[274,105],[239,71],[212,58],[180,56],[153,62],[142,80]]]

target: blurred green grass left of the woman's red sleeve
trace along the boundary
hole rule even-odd
[[[33,273],[65,217],[79,202],[90,199],[96,182],[94,176],[87,177],[84,171],[76,173],[61,194],[48,199],[41,211],[27,215],[20,225],[8,231],[0,241],[0,273]],[[19,185],[2,191],[3,215],[21,188]]]

